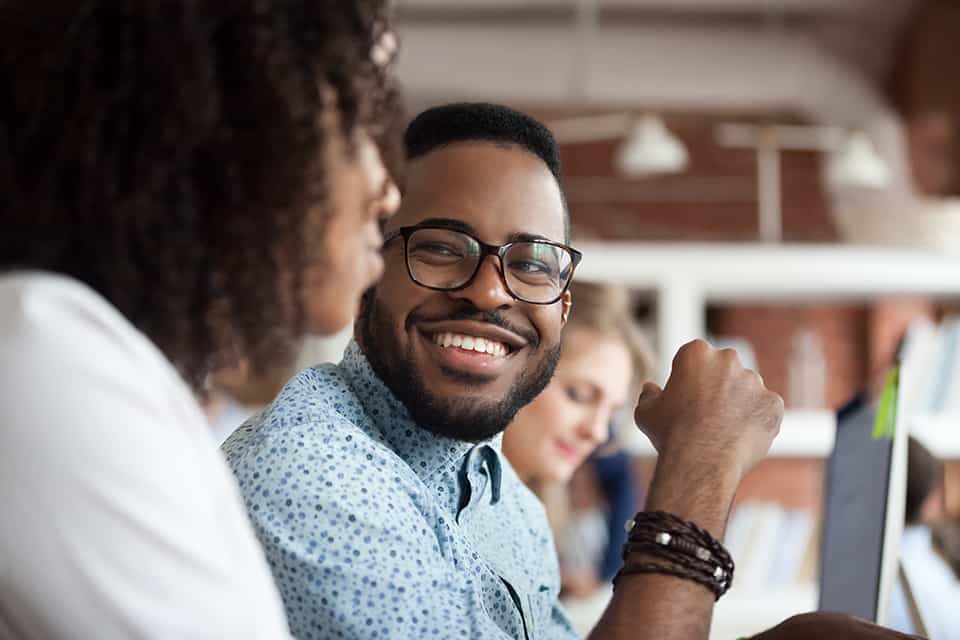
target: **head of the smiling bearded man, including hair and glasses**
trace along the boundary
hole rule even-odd
[[[461,111],[479,122],[451,118]],[[479,126],[503,139],[450,144]],[[358,333],[377,376],[437,435],[497,435],[557,365],[580,254],[564,244],[549,136],[481,106],[427,112],[408,131],[406,215],[384,238],[395,267],[368,293]]]

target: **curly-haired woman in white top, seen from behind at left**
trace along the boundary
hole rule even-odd
[[[198,399],[382,270],[385,10],[0,3],[0,637],[287,637]]]

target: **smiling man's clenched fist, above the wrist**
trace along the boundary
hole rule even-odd
[[[739,483],[770,450],[783,400],[735,351],[695,340],[677,353],[663,390],[644,386],[634,418],[661,462],[732,471]]]

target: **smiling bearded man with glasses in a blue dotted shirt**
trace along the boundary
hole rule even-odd
[[[575,304],[556,143],[492,104],[427,110],[404,139],[403,201],[355,342],[235,431],[227,460],[294,634],[573,638],[543,507],[501,453],[503,430],[553,375]],[[651,512],[635,518],[670,512],[686,523],[678,539],[693,525],[716,551],[782,413],[735,353],[684,347],[635,411],[660,452]],[[671,571],[651,549],[628,555],[634,571],[593,637],[707,637],[720,579]],[[759,636],[800,637],[904,636],[817,614]]]

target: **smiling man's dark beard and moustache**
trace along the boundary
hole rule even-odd
[[[507,324],[497,312],[484,313],[475,308],[461,310],[447,319],[454,318],[470,318],[498,326]],[[407,329],[410,324],[408,319]],[[547,347],[549,351],[544,352],[541,361],[523,371],[507,396],[500,401],[437,397],[427,388],[413,366],[413,344],[408,346],[406,353],[401,351],[394,333],[396,326],[374,290],[368,290],[361,303],[358,329],[361,347],[374,373],[406,406],[418,426],[457,440],[481,442],[506,429],[517,412],[547,386],[560,359],[559,344],[552,349]],[[445,370],[444,373],[465,385],[479,386],[490,380],[486,376],[462,371]]]

